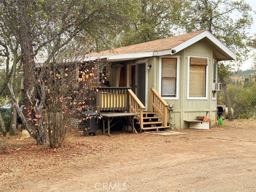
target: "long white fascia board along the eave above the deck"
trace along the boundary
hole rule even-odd
[[[62,59],[62,62],[81,62],[81,61],[93,61],[97,59],[107,58],[107,61],[114,60],[130,60],[144,57],[157,56],[157,52],[144,52],[144,53],[129,53],[129,54],[113,54],[113,55],[98,55],[98,56],[84,56],[76,58]]]

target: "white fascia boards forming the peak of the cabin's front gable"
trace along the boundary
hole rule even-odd
[[[218,38],[216,38],[212,33],[210,33],[207,30],[192,37],[189,40],[186,40],[182,44],[179,44],[172,49],[175,49],[176,52],[179,52],[179,51],[183,50],[184,48],[198,42],[199,40],[201,40],[202,38],[205,38],[205,37],[207,37],[211,42],[213,42],[216,46],[218,46],[218,48],[220,48],[226,54],[228,54],[232,59],[236,60],[236,54],[232,50],[230,50],[226,45],[224,45],[222,42],[220,42],[220,40],[218,40]],[[170,51],[170,54],[173,55],[171,51]]]

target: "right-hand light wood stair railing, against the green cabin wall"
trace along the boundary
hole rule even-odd
[[[156,91],[155,88],[150,88],[150,112],[158,112],[163,118],[163,126],[167,126],[167,102]]]

